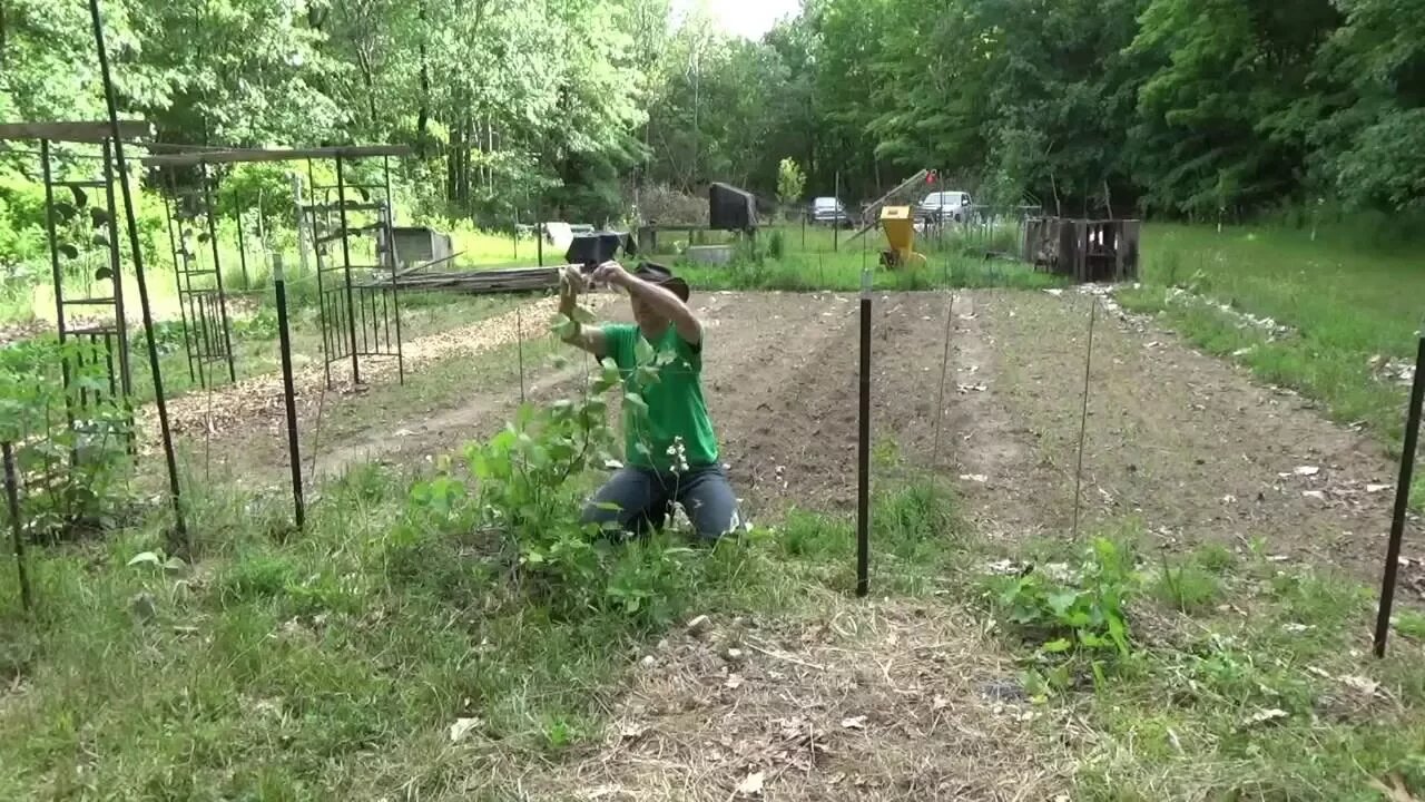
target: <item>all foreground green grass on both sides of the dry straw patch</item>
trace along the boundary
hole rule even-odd
[[[902,475],[889,445],[876,469],[898,481],[874,494],[875,592],[916,597],[925,615],[963,616],[965,602],[989,615],[975,575],[990,559],[1077,565],[1083,554],[980,541],[942,487]],[[301,534],[281,494],[197,488],[201,558],[177,572],[125,565],[162,544],[161,505],[108,541],[38,551],[36,619],[0,595],[0,685],[23,689],[0,696],[0,795],[440,798],[469,776],[513,785],[520,766],[604,736],[610,692],[668,626],[708,611],[795,616],[855,582],[852,522],[792,511],[775,532],[660,574],[665,618],[557,615],[510,584],[477,534],[403,527],[409,481],[355,467]],[[1026,732],[1069,761],[1074,799],[1365,802],[1389,772],[1425,788],[1418,614],[1402,611],[1391,656],[1374,662],[1367,588],[1223,547],[1163,562],[1134,534],[1112,534],[1117,554],[1141,559],[1137,584],[1114,574],[1131,652],[1100,655],[1100,679],[1030,682],[1052,662],[1000,622],[1037,695]],[[654,547],[630,548],[617,569],[658,564]],[[154,616],[135,618],[147,602]],[[1359,676],[1389,698],[1359,695]],[[457,718],[479,724],[452,746]]]

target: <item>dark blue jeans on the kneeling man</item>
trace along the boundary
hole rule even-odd
[[[721,465],[695,467],[683,474],[618,468],[584,507],[583,519],[643,535],[663,527],[674,502],[683,505],[693,531],[703,541],[735,532],[741,524],[737,495]]]

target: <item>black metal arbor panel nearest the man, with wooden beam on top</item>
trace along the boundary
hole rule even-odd
[[[304,203],[301,190],[295,193],[298,207],[299,240],[309,241],[316,260],[318,298],[322,327],[322,355],[326,381],[331,385],[331,365],[336,361],[351,361],[352,382],[359,384],[362,357],[395,357],[400,381],[405,382],[405,355],[400,344],[399,303],[399,258],[395,251],[392,225],[395,223],[390,194],[390,157],[410,156],[406,146],[358,146],[316,148],[251,148],[251,150],[204,150],[171,156],[150,156],[144,158],[148,167],[207,167],[219,164],[256,161],[306,160],[309,180],[315,177],[314,160],[333,160],[336,183],[315,186],[311,183],[309,203]],[[380,184],[346,183],[346,166],[353,158],[382,157],[383,180]],[[298,181],[299,184],[299,181]],[[368,194],[379,190],[379,203],[358,201],[348,193]],[[321,200],[318,193],[322,193]],[[211,196],[211,191],[209,191]],[[335,203],[333,203],[335,201]],[[208,204],[208,210],[211,210]],[[353,225],[353,214],[373,214],[375,223]],[[209,225],[212,237],[215,231]],[[358,237],[370,237],[375,264],[353,264],[352,245]],[[328,260],[326,244],[341,243],[339,260]],[[177,247],[177,243],[175,243]],[[214,255],[217,260],[217,254]],[[306,251],[304,248],[305,261]],[[353,271],[370,270],[376,274],[389,271],[390,280],[358,283]]]

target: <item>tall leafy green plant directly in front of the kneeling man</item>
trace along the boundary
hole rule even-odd
[[[577,314],[580,323],[591,323],[587,313]],[[574,325],[560,315],[553,328],[563,337]],[[657,382],[670,358],[641,341],[633,368],[637,384]],[[617,548],[617,538],[584,524],[580,514],[586,472],[617,454],[608,405],[623,381],[618,365],[603,360],[579,397],[520,407],[503,431],[469,445],[462,465],[445,465],[412,488],[392,547],[429,549],[425,532],[430,531],[475,534],[499,569],[551,609],[564,615],[618,609],[650,622],[667,621],[667,591],[678,584],[688,549],[663,541]],[[647,411],[636,392],[624,390],[621,402],[636,415]]]

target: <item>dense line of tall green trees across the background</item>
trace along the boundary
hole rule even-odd
[[[98,116],[84,3],[3,7],[0,120]],[[408,184],[453,214],[772,197],[788,157],[848,200],[921,167],[1064,213],[1425,197],[1425,0],[807,0],[761,41],[670,0],[105,9],[161,141],[410,143]]]

